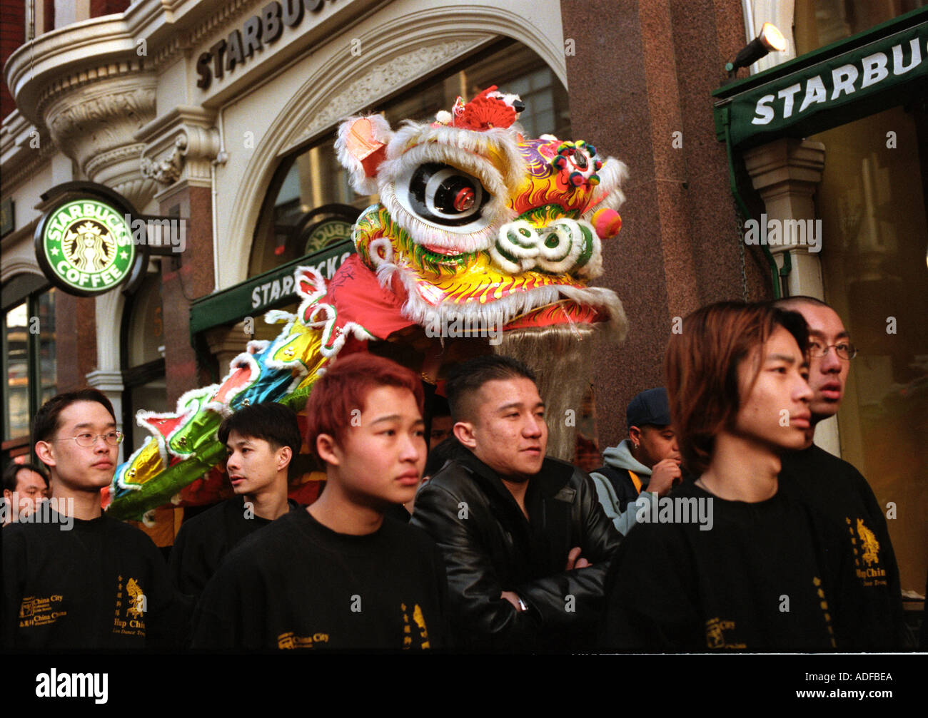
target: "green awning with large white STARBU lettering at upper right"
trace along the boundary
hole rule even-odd
[[[928,7],[713,93],[719,141],[806,137],[905,102],[928,86]],[[726,128],[727,126],[727,128]]]

